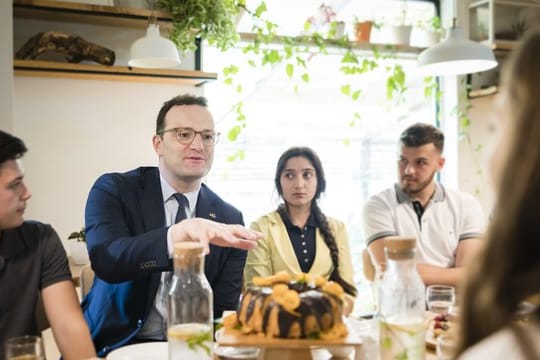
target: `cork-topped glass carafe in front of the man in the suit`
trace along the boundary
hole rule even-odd
[[[198,242],[181,242],[174,247],[167,339],[169,360],[212,358],[212,288],[204,275],[204,248]]]

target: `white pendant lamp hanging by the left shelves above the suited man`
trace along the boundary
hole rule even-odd
[[[135,40],[131,45],[129,66],[160,69],[180,65],[180,57],[176,45],[159,34],[159,24],[154,16],[154,3],[148,21],[146,36]]]

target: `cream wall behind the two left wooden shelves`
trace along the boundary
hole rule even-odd
[[[124,66],[131,43],[144,34],[144,29],[24,19],[13,26],[15,51],[39,31],[58,30],[113,49],[115,65]],[[192,58],[181,68],[192,69]],[[11,73],[12,65],[2,69],[6,66]],[[157,163],[151,142],[157,112],[164,101],[186,92],[202,95],[203,88],[16,76],[12,130],[28,146],[23,161],[33,193],[26,218],[52,224],[64,241],[79,230],[99,175]]]

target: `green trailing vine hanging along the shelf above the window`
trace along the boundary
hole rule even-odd
[[[310,82],[309,63],[312,57],[325,56],[332,49],[333,52],[340,52],[340,71],[351,79],[340,87],[341,94],[353,102],[362,101],[362,89],[352,84],[358,76],[381,68],[386,74],[388,102],[404,100],[407,76],[397,61],[396,48],[392,45],[372,45],[365,50],[368,55],[360,55],[355,43],[346,34],[340,34],[340,22],[336,20],[333,10],[324,4],[318,16],[305,21],[303,34],[294,37],[278,35],[277,24],[266,18],[268,8],[264,1],[255,9],[248,9],[245,0],[158,0],[158,4],[171,13],[171,39],[181,49],[193,50],[195,38],[203,38],[221,51],[240,45],[251,67],[282,66],[295,93],[300,91],[302,84]],[[251,35],[244,39],[236,31],[235,20],[239,12],[247,14],[252,21]],[[222,70],[223,83],[237,94],[244,92],[244,86],[238,80],[241,71],[237,64],[230,64]],[[235,103],[230,112],[234,114],[235,121],[227,138],[236,141],[248,123],[243,101]],[[352,114],[349,126],[355,126],[360,118],[358,112]],[[243,158],[243,150],[229,156],[230,161]]]

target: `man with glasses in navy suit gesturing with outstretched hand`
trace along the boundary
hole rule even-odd
[[[246,250],[261,234],[244,228],[241,212],[202,183],[218,135],[205,98],[177,96],[157,117],[159,166],[102,175],[90,190],[86,239],[96,278],[82,306],[100,356],[165,340],[165,274],[177,242],[207,249],[214,317],[236,309]],[[186,219],[177,222],[178,214]]]

